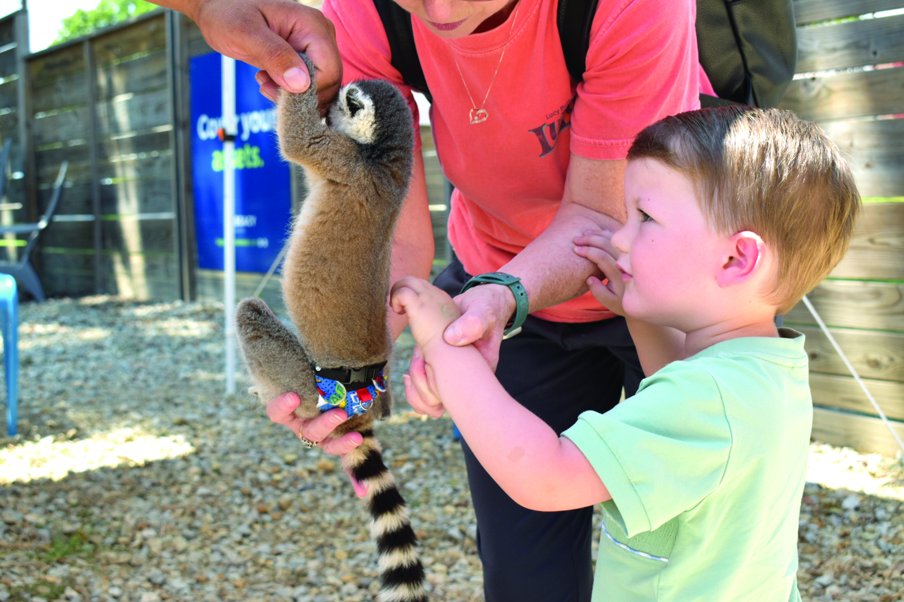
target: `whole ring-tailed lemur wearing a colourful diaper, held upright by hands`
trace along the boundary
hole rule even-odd
[[[344,468],[367,487],[380,555],[378,599],[425,602],[408,508],[372,431],[373,418],[391,411],[382,375],[391,350],[386,299],[393,231],[411,175],[411,111],[391,83],[363,80],[340,90],[324,123],[314,66],[304,58],[311,87],[283,92],[277,109],[280,151],[305,168],[310,190],[283,264],[283,299],[299,336],[253,298],[240,302],[236,332],[255,384],[250,391],[262,402],[294,391],[299,417],[336,406],[351,416],[333,436],[364,437],[345,455]]]

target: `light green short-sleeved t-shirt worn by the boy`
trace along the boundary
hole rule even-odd
[[[787,602],[813,406],[804,335],[734,338],[562,433],[607,486],[593,602]]]

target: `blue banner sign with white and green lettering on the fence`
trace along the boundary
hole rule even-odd
[[[223,269],[223,144],[220,54],[194,57],[192,175],[198,267]],[[279,156],[276,112],[258,92],[258,69],[236,61],[235,263],[239,272],[268,271],[292,218],[288,163]]]

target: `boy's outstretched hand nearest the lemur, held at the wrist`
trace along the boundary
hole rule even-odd
[[[443,331],[461,315],[446,292],[414,276],[392,285],[390,303],[396,313],[408,316],[411,335],[425,354],[429,347],[443,344]]]

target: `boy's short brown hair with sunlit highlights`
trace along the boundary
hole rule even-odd
[[[819,126],[791,111],[720,107],[645,127],[628,160],[655,159],[688,177],[703,215],[726,236],[749,230],[777,255],[767,300],[791,310],[847,251],[860,194]]]

